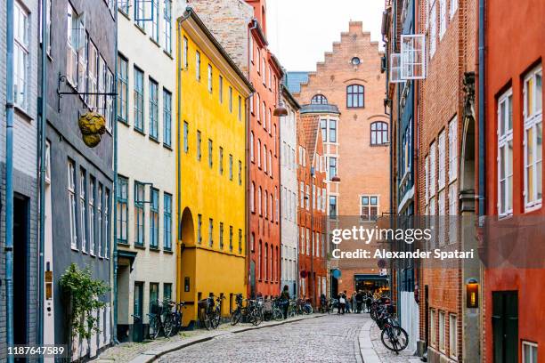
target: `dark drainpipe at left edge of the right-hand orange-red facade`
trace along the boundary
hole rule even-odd
[[[486,151],[484,149],[484,130],[485,130],[485,94],[484,94],[484,75],[485,75],[485,65],[484,65],[484,45],[485,45],[485,36],[484,36],[484,25],[485,25],[485,0],[479,0],[479,217],[484,216],[485,206],[484,198],[486,194],[484,183],[486,181],[484,175],[484,157],[486,156]]]

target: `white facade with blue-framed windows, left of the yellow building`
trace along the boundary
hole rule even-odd
[[[133,314],[146,327],[153,305],[176,296],[177,7],[136,0],[118,9],[119,341],[133,339]]]

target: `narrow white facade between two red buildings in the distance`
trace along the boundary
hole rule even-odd
[[[281,117],[281,286],[297,294],[297,115],[299,105],[286,88],[282,102],[288,116]]]

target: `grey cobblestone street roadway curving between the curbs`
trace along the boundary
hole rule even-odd
[[[161,363],[357,362],[357,336],[368,314],[332,314],[276,327],[222,335],[174,351]]]

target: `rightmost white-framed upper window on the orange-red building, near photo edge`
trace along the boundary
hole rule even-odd
[[[525,77],[525,207],[541,205],[542,196],[542,72],[541,65]]]

